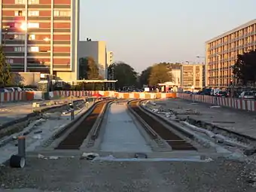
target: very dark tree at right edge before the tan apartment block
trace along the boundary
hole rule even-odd
[[[233,66],[233,74],[244,85],[250,81],[256,81],[256,50],[237,55],[236,63]]]

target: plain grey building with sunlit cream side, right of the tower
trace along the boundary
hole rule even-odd
[[[99,75],[108,78],[107,48],[105,41],[80,41],[79,53],[91,56],[99,67]]]

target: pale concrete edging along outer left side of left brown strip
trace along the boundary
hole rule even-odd
[[[60,139],[68,136],[69,133],[71,133],[81,123],[81,121],[84,120],[93,111],[93,109],[96,107],[96,104],[99,102],[102,102],[102,101],[93,103],[93,105],[91,105],[90,108],[85,108],[85,111],[82,111],[81,114],[79,114],[77,117],[75,117],[74,120],[72,120],[72,121],[70,121],[70,123],[62,126],[62,128],[59,129],[58,131],[56,131],[56,133],[53,133],[53,136],[51,136],[49,139],[47,139],[43,143],[42,146],[44,148],[47,148],[50,145],[53,145],[53,146],[51,146],[50,149],[55,148],[56,147],[55,145],[59,144]]]

